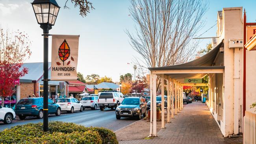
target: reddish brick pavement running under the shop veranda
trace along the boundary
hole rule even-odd
[[[226,144],[217,122],[202,102],[187,104],[165,127],[153,139],[121,141],[119,144]]]

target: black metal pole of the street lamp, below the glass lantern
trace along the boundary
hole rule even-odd
[[[43,92],[43,111],[44,111],[44,118],[43,118],[43,130],[48,131],[48,33],[49,30],[52,28],[49,24],[42,24],[40,26],[43,29],[43,36],[44,36],[44,64],[43,64],[43,85],[44,85],[44,92]]]

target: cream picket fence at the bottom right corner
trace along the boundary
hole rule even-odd
[[[243,144],[256,144],[256,114],[249,111],[243,117]]]

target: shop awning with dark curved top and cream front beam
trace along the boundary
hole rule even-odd
[[[212,73],[221,73],[224,66],[215,65],[216,57],[221,53],[221,47],[224,47],[223,41],[207,54],[188,63],[148,69],[154,74],[165,74],[180,82],[184,82],[185,78],[203,78],[210,71],[212,71]]]

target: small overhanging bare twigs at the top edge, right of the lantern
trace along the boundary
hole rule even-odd
[[[67,0],[65,2],[64,9],[69,8],[69,7],[67,7],[67,2],[68,1],[69,0]],[[86,17],[87,13],[90,13],[90,10],[94,9],[93,4],[91,2],[89,2],[88,0],[70,0],[70,1],[75,4],[75,7],[79,7],[80,15],[82,17]]]

